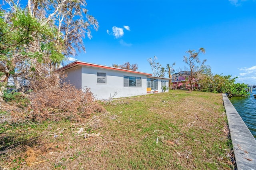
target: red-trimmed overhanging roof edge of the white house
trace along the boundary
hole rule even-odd
[[[128,73],[136,73],[136,74],[142,74],[142,75],[148,75],[148,76],[152,75],[150,73],[144,73],[144,72],[133,71],[133,70],[128,70],[128,69],[120,69],[120,68],[116,68],[116,67],[110,67],[110,66],[99,65],[99,64],[94,64],[94,63],[86,63],[83,61],[73,61],[72,63],[69,63],[68,65],[64,65],[63,67],[59,68],[58,70],[67,70],[72,67],[76,67],[78,65],[101,68],[101,69],[109,69],[109,70],[115,70],[115,71],[124,71],[124,72],[128,72]]]

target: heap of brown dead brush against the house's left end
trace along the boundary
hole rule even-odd
[[[84,91],[65,83],[64,73],[51,73],[43,69],[30,78],[30,93],[26,94],[29,103],[20,108],[12,105],[8,110],[14,120],[31,119],[34,121],[59,121],[68,119],[80,122],[94,112],[104,112],[104,108],[86,88]],[[19,118],[19,119],[16,119]]]

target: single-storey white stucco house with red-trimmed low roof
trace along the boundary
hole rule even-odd
[[[168,78],[152,77],[150,73],[120,69],[82,61],[61,67],[69,81],[78,89],[90,88],[97,100],[146,95],[162,92]]]

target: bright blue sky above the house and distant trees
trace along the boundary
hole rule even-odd
[[[112,66],[130,62],[152,73],[147,61],[183,69],[188,49],[203,47],[212,73],[238,76],[236,83],[256,85],[255,0],[87,0],[99,22],[86,53],[70,58]],[[166,74],[167,76],[167,74]]]

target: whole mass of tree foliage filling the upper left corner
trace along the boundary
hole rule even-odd
[[[45,77],[76,51],[85,50],[85,35],[98,30],[85,0],[7,0],[0,6],[1,92],[13,77],[16,91],[24,91],[38,77]],[[22,8],[21,6],[26,6]]]

